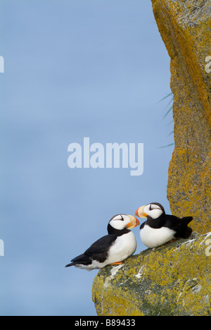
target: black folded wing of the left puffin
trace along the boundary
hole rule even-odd
[[[101,237],[99,240],[96,240],[87,251],[84,252],[84,255],[90,259],[97,260],[98,262],[104,262],[108,257],[108,250],[110,246],[113,245],[117,236],[115,235],[106,235]]]

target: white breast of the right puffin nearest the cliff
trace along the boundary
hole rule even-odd
[[[141,228],[140,237],[144,245],[153,248],[173,240],[175,233],[175,231],[167,227],[151,228],[145,224]]]

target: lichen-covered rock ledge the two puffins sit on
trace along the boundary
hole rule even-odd
[[[208,238],[211,233],[177,240],[99,271],[93,283],[98,315],[211,315]]]

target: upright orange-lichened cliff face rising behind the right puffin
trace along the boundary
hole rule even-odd
[[[167,197],[172,214],[193,215],[193,230],[210,231],[211,204],[211,3],[152,0],[171,57],[175,149]]]

